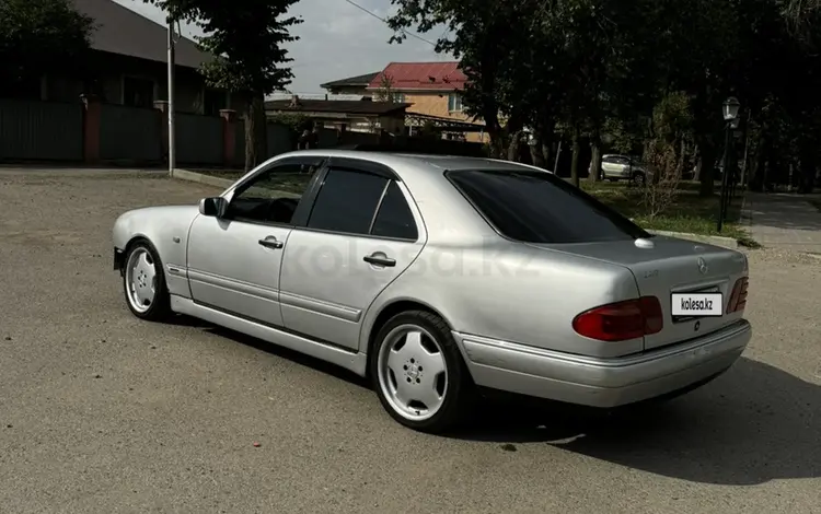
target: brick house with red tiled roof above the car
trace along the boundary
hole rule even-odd
[[[449,139],[487,141],[484,122],[464,113],[462,91],[466,82],[458,61],[391,62],[371,78],[363,96],[377,100],[390,93],[391,101],[410,104],[405,122],[412,133],[425,125],[433,125]],[[329,92],[339,91],[338,85],[334,90],[331,84],[334,82],[322,86]]]

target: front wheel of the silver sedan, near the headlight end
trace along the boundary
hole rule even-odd
[[[148,241],[139,241],[128,248],[123,265],[123,292],[128,309],[140,319],[160,322],[171,315],[162,261]]]

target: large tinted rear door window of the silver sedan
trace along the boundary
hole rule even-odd
[[[308,226],[368,234],[388,178],[370,173],[329,170],[316,196]]]

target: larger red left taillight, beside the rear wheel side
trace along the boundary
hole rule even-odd
[[[602,305],[573,320],[577,334],[600,341],[626,341],[658,334],[663,325],[661,303],[656,296]]]

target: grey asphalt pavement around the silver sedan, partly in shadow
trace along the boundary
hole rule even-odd
[[[127,312],[115,217],[211,191],[0,171],[0,511],[821,512],[811,258],[752,256],[752,347],[663,409],[489,404],[475,429],[433,437],[316,361]]]

